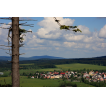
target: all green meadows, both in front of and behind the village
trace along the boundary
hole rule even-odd
[[[25,64],[27,65],[27,64]],[[91,64],[62,64],[62,65],[56,65],[57,68],[45,68],[45,69],[20,69],[20,74],[25,73],[35,73],[35,72],[44,72],[44,71],[54,71],[54,70],[81,70],[81,69],[92,69],[92,70],[106,70],[106,66],[98,66],[98,65],[91,65]],[[4,71],[4,75],[8,75],[11,71]],[[28,79],[27,76],[20,76],[20,87],[58,87],[59,84],[63,81],[61,79],[37,79],[37,78],[30,78]],[[0,84],[5,84],[4,79],[6,81],[6,84],[11,83],[11,77],[0,77]],[[93,87],[92,85],[80,83],[80,82],[72,82],[76,83],[77,87]]]

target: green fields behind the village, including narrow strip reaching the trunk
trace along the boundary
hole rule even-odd
[[[27,64],[25,64],[27,65]],[[80,70],[80,69],[90,69],[90,70],[106,70],[106,66],[98,66],[98,65],[91,65],[91,64],[80,64],[80,63],[75,63],[75,64],[62,64],[62,65],[56,65],[57,68],[45,68],[45,69],[20,69],[19,72],[22,74],[23,72],[25,73],[35,73],[35,72],[52,72],[54,70]],[[5,75],[8,75],[10,71],[4,71]]]

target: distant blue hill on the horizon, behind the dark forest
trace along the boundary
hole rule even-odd
[[[62,57],[54,57],[54,56],[48,56],[48,55],[44,55],[44,56],[32,56],[32,57],[19,57],[19,61],[23,61],[23,60],[38,60],[38,59],[42,59],[42,60],[50,60],[50,59],[65,59]],[[10,56],[0,56],[0,61],[11,61],[11,57]]]

